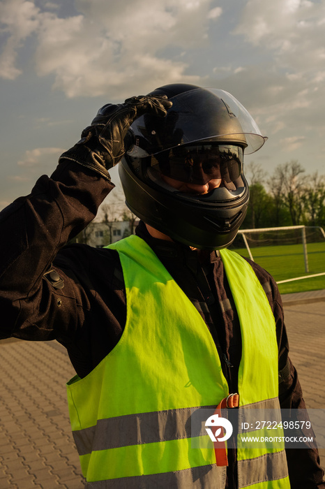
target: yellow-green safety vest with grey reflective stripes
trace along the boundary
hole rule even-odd
[[[132,235],[109,248],[119,252],[123,269],[126,326],[86,377],[67,384],[86,487],[225,488],[226,467],[216,465],[212,443],[191,434],[192,416],[229,395],[211,333],[144,240]],[[241,323],[239,410],[279,408],[269,301],[241,256],[220,253]],[[290,488],[282,446],[239,446],[237,459],[239,488]]]

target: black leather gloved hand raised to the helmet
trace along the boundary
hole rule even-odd
[[[91,126],[82,131],[80,141],[61,154],[59,163],[70,159],[110,180],[107,170],[119,163],[126,152],[124,138],[133,121],[145,113],[165,117],[171,106],[165,95],[135,96],[117,105],[107,103],[98,110]]]

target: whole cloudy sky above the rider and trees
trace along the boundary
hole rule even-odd
[[[325,174],[325,0],[1,0],[0,78],[0,208],[101,105],[171,82],[243,103],[269,136],[246,162]]]

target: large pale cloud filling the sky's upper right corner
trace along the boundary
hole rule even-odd
[[[234,89],[264,133],[282,138],[282,150],[294,151],[321,136],[324,20],[325,0],[248,0],[232,31],[265,61],[242,64],[245,71],[229,75],[229,92]]]

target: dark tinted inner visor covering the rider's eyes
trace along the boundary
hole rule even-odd
[[[234,182],[242,165],[243,149],[235,145],[179,146],[151,156],[151,167],[162,175],[199,185],[213,179]]]

